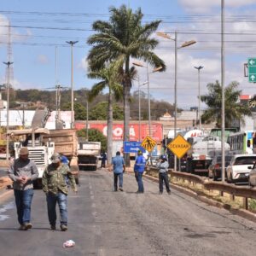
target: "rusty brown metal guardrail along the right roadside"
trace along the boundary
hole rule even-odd
[[[148,175],[152,175],[153,173],[158,173],[157,168],[150,167],[148,170]],[[207,190],[218,190],[221,194],[227,193],[233,196],[243,197],[243,207],[248,209],[248,198],[256,199],[256,189],[253,188],[240,188],[237,187],[235,184],[228,184],[228,183],[218,183],[213,181],[208,181],[205,177],[200,177],[195,174],[190,174],[187,172],[175,172],[169,169],[169,173],[172,177],[177,177],[183,180],[187,180],[191,183],[199,183],[201,184],[204,189]],[[155,175],[154,175],[155,176]]]

